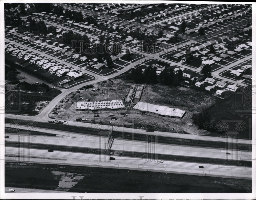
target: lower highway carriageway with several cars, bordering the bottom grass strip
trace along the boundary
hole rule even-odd
[[[17,156],[18,150],[25,151],[22,148],[6,147],[6,153],[11,156]],[[21,154],[24,155],[24,154]],[[24,155],[26,156],[26,155]],[[219,166],[205,163],[189,163],[164,161],[164,163],[157,163],[156,161],[146,161],[142,158],[134,157],[115,157],[115,160],[109,160],[109,156],[99,157],[97,154],[74,153],[47,150],[31,149],[30,159],[31,163],[52,163],[61,165],[80,165],[89,167],[107,167],[107,168],[121,168],[144,171],[158,171],[166,173],[191,174],[199,176],[214,176],[214,177],[228,177],[238,179],[251,179],[251,167],[239,166]],[[17,159],[18,157],[5,157],[5,160]],[[14,161],[13,161],[14,162]],[[199,168],[202,165],[204,168]]]

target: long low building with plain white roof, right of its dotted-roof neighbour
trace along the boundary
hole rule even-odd
[[[178,108],[170,108],[168,106],[163,106],[163,105],[155,105],[151,103],[145,103],[139,101],[133,109],[139,110],[141,112],[146,112],[146,113],[152,113],[152,114],[158,114],[159,116],[164,116],[164,117],[174,117],[174,118],[179,118],[182,119],[184,115],[186,114],[185,110],[180,110]]]

